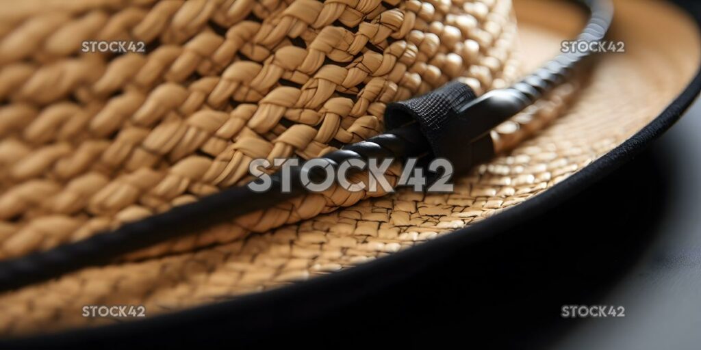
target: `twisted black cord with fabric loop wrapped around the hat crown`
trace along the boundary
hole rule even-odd
[[[590,10],[590,19],[578,40],[601,41],[611,25],[611,2],[580,2]],[[456,100],[456,91],[467,87],[449,84],[408,102],[392,104],[388,106],[386,120],[388,126],[396,126],[396,129],[344,146],[323,158],[336,165],[351,158],[404,160],[429,153],[433,157],[448,158],[454,163],[457,173],[464,172],[493,155],[489,130],[563,83],[571,71],[590,55],[592,52],[589,51],[559,55],[519,83],[487,92],[477,99],[474,99],[474,94],[470,95],[471,90],[463,90],[462,98]],[[412,120],[418,123],[412,123]],[[291,170],[299,172],[298,168]],[[116,230],[100,232],[48,251],[4,260],[0,262],[0,290],[20,288],[82,267],[106,264],[124,253],[273,207],[305,192],[299,183],[293,181],[291,191],[283,193],[280,174],[273,174],[271,179],[273,187],[266,193],[254,193],[246,187],[222,190],[197,202],[126,223]]]

